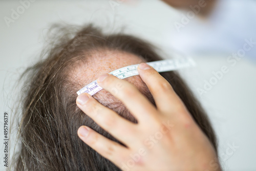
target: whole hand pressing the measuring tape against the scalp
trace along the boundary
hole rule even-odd
[[[77,98],[78,107],[105,131],[127,147],[96,133],[87,126],[78,129],[80,139],[122,170],[220,170],[212,165],[214,147],[193,120],[172,86],[146,63],[138,67],[141,79],[152,93],[157,108],[133,84],[104,74],[98,84],[113,95],[136,117],[132,123],[89,94]],[[218,163],[218,161],[217,161]]]

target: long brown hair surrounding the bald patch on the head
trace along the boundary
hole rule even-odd
[[[146,61],[162,58],[154,46],[131,35],[106,35],[92,25],[75,32],[71,31],[74,28],[68,27],[55,27],[55,30],[58,33],[54,43],[50,44],[47,57],[28,68],[22,76],[26,76],[29,84],[22,96],[21,145],[16,155],[15,170],[120,170],[77,136],[78,127],[87,125],[117,141],[77,107],[76,91],[84,85],[72,81],[74,78],[69,73],[86,63],[95,51],[126,52],[141,56]],[[172,84],[217,152],[214,130],[188,86],[176,72],[161,75]],[[118,113],[122,115],[122,111]],[[131,120],[128,116],[126,118]]]

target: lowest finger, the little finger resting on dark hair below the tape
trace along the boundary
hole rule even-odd
[[[126,154],[129,153],[129,150],[126,147],[105,138],[88,126],[79,127],[77,134],[84,143],[92,147],[101,156],[115,163],[117,166],[120,166],[120,163],[123,160],[122,156],[127,156]]]

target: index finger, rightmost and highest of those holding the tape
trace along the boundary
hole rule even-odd
[[[157,109],[170,113],[177,108],[184,108],[183,102],[173,90],[169,82],[164,79],[153,67],[140,63],[138,72],[141,79],[152,93]]]

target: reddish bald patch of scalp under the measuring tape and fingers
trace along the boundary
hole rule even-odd
[[[119,68],[141,62],[146,62],[146,60],[131,53],[120,51],[97,51],[96,53],[88,56],[87,61],[73,71],[72,77],[77,81],[79,80],[83,85],[82,87],[84,87],[96,80],[102,74],[110,73]],[[125,78],[124,80],[134,84],[134,86],[137,87],[137,89],[155,105],[152,94],[139,75]],[[101,104],[114,110],[124,118],[137,122],[129,110],[126,109],[124,104],[110,92],[101,90],[93,95],[93,97]]]

